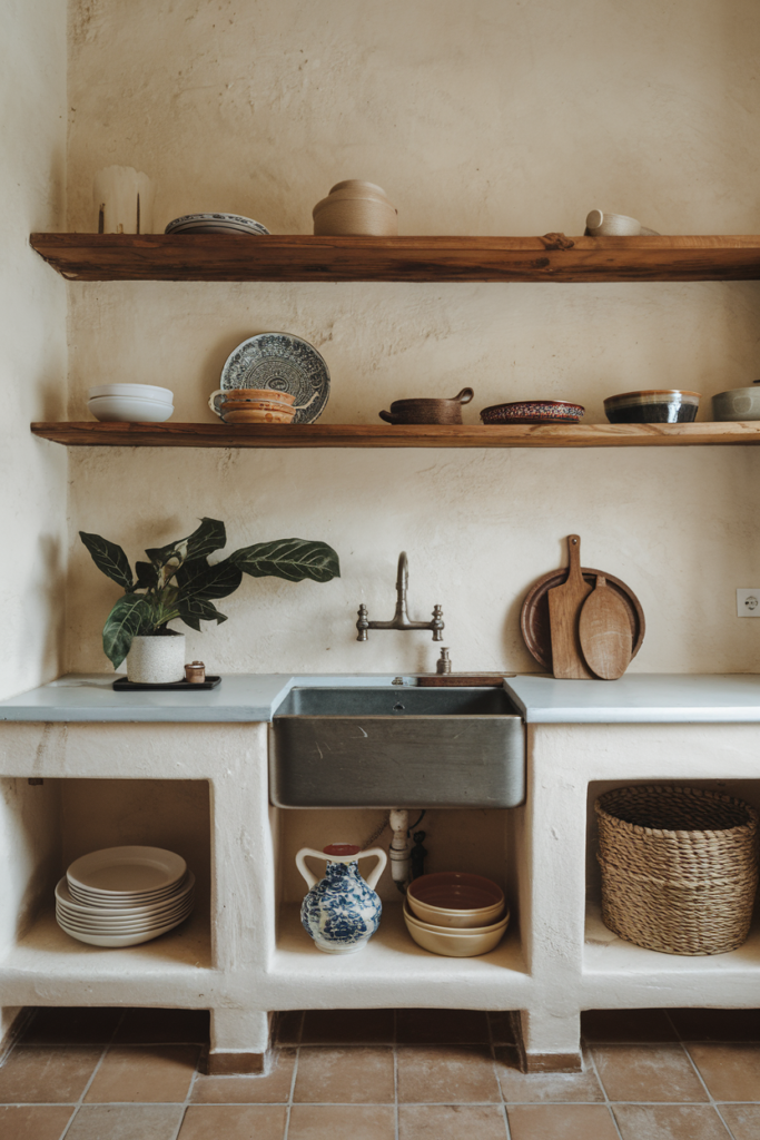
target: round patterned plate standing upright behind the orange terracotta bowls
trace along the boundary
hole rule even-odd
[[[269,388],[295,396],[294,424],[312,424],[329,398],[329,372],[313,344],[292,333],[259,333],[234,349],[222,368],[218,415],[230,388]]]

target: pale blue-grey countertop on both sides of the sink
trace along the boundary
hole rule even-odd
[[[114,674],[72,675],[0,701],[0,720],[261,722],[294,685],[390,685],[391,674],[231,674],[201,692],[114,692]],[[404,676],[406,684],[416,678]],[[620,681],[505,678],[529,724],[760,723],[760,676],[629,674]]]

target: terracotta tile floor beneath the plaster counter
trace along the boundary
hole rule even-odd
[[[2,1140],[760,1140],[760,1010],[595,1010],[586,1068],[525,1076],[507,1013],[278,1020],[267,1076],[198,1073],[204,1012],[40,1009]]]

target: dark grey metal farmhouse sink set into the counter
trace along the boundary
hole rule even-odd
[[[278,807],[515,807],[524,727],[501,689],[295,687],[269,787]]]

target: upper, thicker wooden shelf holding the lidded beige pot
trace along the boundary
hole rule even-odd
[[[747,237],[236,237],[32,234],[71,280],[754,280]]]

